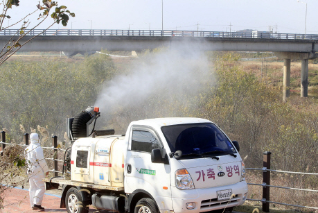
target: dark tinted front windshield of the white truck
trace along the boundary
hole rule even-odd
[[[236,153],[233,144],[213,123],[188,123],[161,127],[171,152],[227,155]]]

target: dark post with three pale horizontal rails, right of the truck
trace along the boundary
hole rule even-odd
[[[292,190],[299,190],[299,191],[318,192],[318,190],[314,190],[314,189],[299,189],[299,188],[292,188],[292,187],[281,187],[281,186],[270,185],[270,172],[271,171],[281,172],[281,173],[294,173],[294,174],[318,176],[318,173],[305,173],[305,172],[281,171],[281,170],[270,169],[270,156],[271,156],[270,152],[263,153],[263,168],[262,169],[246,168],[247,170],[263,171],[263,183],[261,183],[261,184],[249,183],[249,182],[247,183],[247,185],[256,185],[256,186],[263,187],[263,198],[261,200],[247,198],[247,201],[262,202],[263,203],[263,212],[270,212],[270,203],[318,210],[318,207],[310,207],[310,206],[305,206],[305,205],[294,205],[294,204],[279,203],[279,202],[270,201],[270,187],[280,188],[280,189],[292,189]]]

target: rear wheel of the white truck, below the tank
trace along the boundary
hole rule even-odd
[[[68,213],[87,213],[89,207],[82,204],[82,196],[76,188],[70,188],[65,196],[65,205]]]

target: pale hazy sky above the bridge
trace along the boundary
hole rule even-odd
[[[53,28],[73,29],[152,29],[180,31],[239,31],[253,29],[277,33],[318,34],[317,0],[58,0],[76,13],[69,25]],[[13,7],[4,26],[36,9],[38,1],[21,0]],[[162,6],[163,3],[163,6]],[[306,4],[307,3],[307,22]],[[163,10],[163,15],[162,15]],[[36,24],[39,12],[30,19]],[[162,22],[163,19],[163,22]],[[39,28],[48,26],[44,23]],[[231,25],[231,26],[230,26]],[[17,28],[13,26],[12,28]]]

